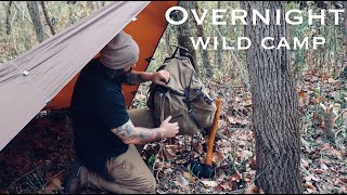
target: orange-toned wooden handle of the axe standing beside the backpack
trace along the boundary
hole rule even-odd
[[[210,130],[210,134],[207,142],[207,155],[205,159],[205,164],[209,166],[213,166],[213,151],[214,151],[214,143],[215,143],[215,138],[218,129],[218,121],[219,121],[219,115],[220,115],[220,108],[221,108],[221,99],[216,100],[216,106],[217,106],[217,110],[215,114],[213,128]]]

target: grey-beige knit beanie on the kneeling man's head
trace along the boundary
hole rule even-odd
[[[100,52],[100,62],[111,69],[121,69],[139,60],[139,46],[125,31],[116,35]]]

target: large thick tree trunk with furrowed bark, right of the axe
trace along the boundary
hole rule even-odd
[[[265,50],[260,41],[273,37],[278,43],[285,37],[286,23],[279,1],[242,1],[242,9],[265,15],[270,10],[270,25],[252,25],[252,14],[244,26],[252,41],[247,65],[253,102],[253,125],[256,136],[256,185],[269,194],[298,194],[300,186],[300,130],[298,99],[288,68],[287,50]],[[281,10],[281,24],[275,23],[275,10]],[[272,25],[273,24],[273,25]]]

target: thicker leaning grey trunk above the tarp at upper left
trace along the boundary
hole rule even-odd
[[[38,6],[37,1],[27,1],[27,8],[30,13],[30,17],[34,24],[34,28],[36,31],[36,37],[39,42],[42,42],[44,40],[44,31],[43,31],[43,25],[41,22],[40,16],[40,10]]]

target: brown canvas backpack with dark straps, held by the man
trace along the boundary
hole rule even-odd
[[[166,86],[151,86],[147,106],[153,109],[155,125],[158,127],[164,119],[172,116],[170,122],[179,122],[179,134],[208,133],[216,104],[196,76],[194,62],[188,50],[178,47],[157,72],[160,69],[169,72],[170,80]]]

